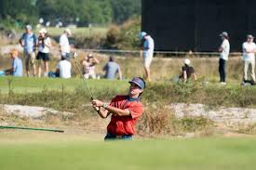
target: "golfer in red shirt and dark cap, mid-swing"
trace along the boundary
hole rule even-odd
[[[91,101],[92,107],[98,111],[101,118],[105,119],[112,115],[105,140],[132,139],[135,134],[138,118],[144,111],[140,97],[146,84],[141,77],[135,77],[128,83],[128,95],[116,96],[110,103],[98,99]]]

